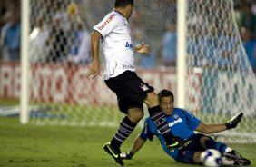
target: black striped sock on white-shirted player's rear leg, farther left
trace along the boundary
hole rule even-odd
[[[133,133],[134,128],[136,127],[137,123],[133,123],[128,116],[125,116],[122,122],[119,125],[118,131],[113,136],[111,141],[111,146],[118,150],[124,140]]]

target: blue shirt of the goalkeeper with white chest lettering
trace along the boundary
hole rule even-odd
[[[201,123],[201,121],[196,118],[192,113],[180,108],[173,108],[172,114],[170,116],[167,116],[166,119],[172,131],[172,134],[174,136],[180,136],[182,139],[187,139],[191,137],[194,134],[193,131],[197,128],[199,123]],[[176,160],[179,150],[175,149],[174,152],[170,152],[167,149],[162,134],[158,132],[151,117],[147,117],[145,119],[143,132],[140,134],[140,137],[143,140],[149,139],[150,141],[152,141],[154,134],[157,135],[157,137],[159,138],[164,152],[166,152],[168,155],[172,156],[172,158]]]

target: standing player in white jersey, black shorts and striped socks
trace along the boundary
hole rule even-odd
[[[134,52],[147,54],[150,48],[144,43],[133,45],[128,26],[132,13],[133,0],[115,0],[113,11],[98,25],[94,25],[94,32],[91,34],[93,62],[87,73],[88,76],[92,75],[92,78],[101,75],[99,45],[102,41],[105,59],[104,81],[116,94],[120,111],[126,114],[112,141],[105,143],[103,149],[120,165],[123,165],[119,155],[120,146],[143,118],[143,103],[148,106],[153,123],[162,133],[167,148],[182,148],[191,142],[172,135],[153,87],[144,83],[135,73]]]

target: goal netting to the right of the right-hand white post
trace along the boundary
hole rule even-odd
[[[243,112],[236,129],[216,135],[228,142],[255,142],[251,127],[255,126],[256,80],[241,44],[232,1],[187,2],[186,87],[193,100],[187,98],[186,108],[204,123],[225,123]],[[201,89],[191,90],[193,84]]]

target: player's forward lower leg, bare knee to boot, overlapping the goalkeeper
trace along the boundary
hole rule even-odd
[[[145,83],[147,85],[147,83]],[[160,108],[158,95],[154,92],[147,93],[147,96],[143,103],[147,104],[149,115],[156,125],[157,129],[162,134],[166,146],[168,149],[172,150],[174,148],[182,148],[186,146],[191,141],[182,140],[179,137],[174,137],[172,135],[171,129],[168,126],[165,115],[162,113]]]

